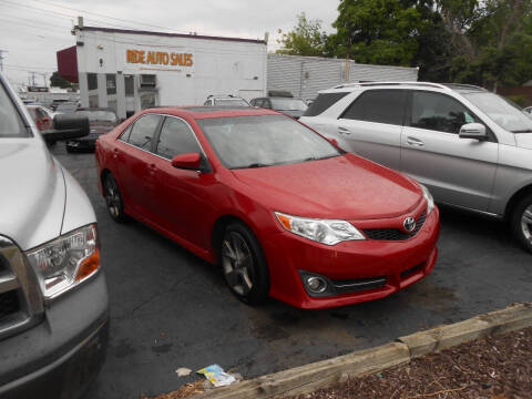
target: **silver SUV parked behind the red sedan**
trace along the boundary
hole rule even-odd
[[[301,122],[415,177],[439,203],[507,219],[532,252],[532,120],[501,96],[463,84],[340,85]]]

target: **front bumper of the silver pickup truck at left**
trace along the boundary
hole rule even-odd
[[[58,298],[45,319],[0,341],[0,398],[74,399],[105,359],[109,305],[103,273]]]

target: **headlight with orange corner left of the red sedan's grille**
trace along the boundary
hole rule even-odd
[[[335,245],[345,241],[366,239],[346,221],[313,219],[279,212],[275,212],[275,216],[288,232],[321,244]]]

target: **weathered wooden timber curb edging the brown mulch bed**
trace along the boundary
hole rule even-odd
[[[194,399],[283,398],[313,392],[348,378],[382,371],[411,359],[488,335],[498,335],[532,326],[532,304],[511,305],[466,321],[440,326],[398,338],[377,348],[323,360],[258,377],[229,387],[194,396]]]

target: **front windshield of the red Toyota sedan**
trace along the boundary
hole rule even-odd
[[[214,152],[228,168],[300,163],[340,155],[327,140],[284,115],[198,121]]]

